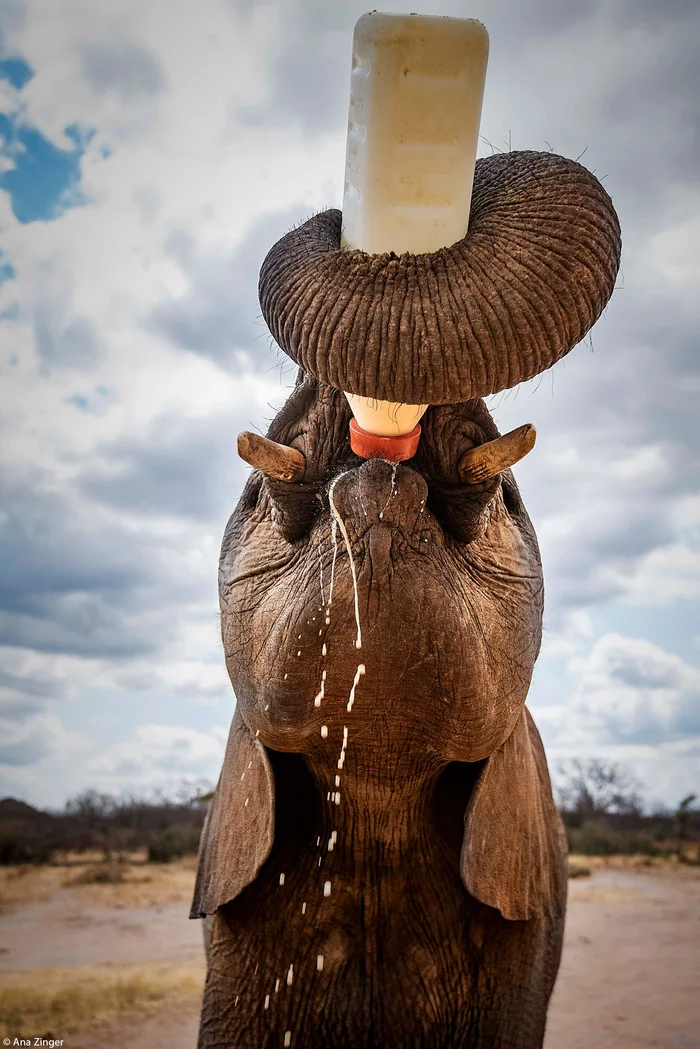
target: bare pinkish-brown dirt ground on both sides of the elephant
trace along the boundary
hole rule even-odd
[[[186,884],[187,875],[168,877],[163,906],[128,905],[123,886],[110,895],[111,886],[64,882],[52,895],[14,902],[0,913],[0,985],[9,973],[30,980],[39,969],[72,966],[119,972],[122,965],[167,963],[204,972],[199,923],[187,920],[185,893],[172,901],[172,886]],[[698,988],[698,869],[596,865],[591,877],[570,882],[545,1049],[700,1049]],[[194,1049],[197,1009],[190,996],[130,1021],[51,1033],[65,1039],[65,1049]]]

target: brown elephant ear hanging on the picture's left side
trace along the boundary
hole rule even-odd
[[[255,879],[275,834],[275,782],[270,758],[233,715],[221,774],[201,831],[190,918],[204,918]]]

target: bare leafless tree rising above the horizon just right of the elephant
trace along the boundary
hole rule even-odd
[[[597,757],[572,758],[559,768],[559,804],[582,821],[610,815],[640,815],[639,782],[627,769]]]

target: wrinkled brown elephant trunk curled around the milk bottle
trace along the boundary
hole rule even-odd
[[[469,231],[450,248],[341,251],[341,223],[326,211],[274,245],[260,306],[305,371],[379,400],[447,404],[531,379],[585,337],[619,267],[608,193],[551,153],[479,160]]]

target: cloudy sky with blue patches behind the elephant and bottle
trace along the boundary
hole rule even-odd
[[[401,10],[387,0],[383,9]],[[269,247],[340,207],[354,0],[0,0],[0,794],[214,779],[220,534],[294,370]],[[624,253],[592,338],[492,399],[547,583],[550,764],[700,788],[700,6],[423,0],[491,38],[481,153],[603,179]]]

